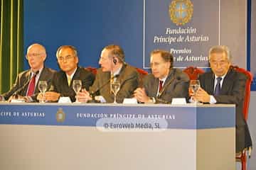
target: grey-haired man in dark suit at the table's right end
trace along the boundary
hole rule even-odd
[[[250,132],[242,115],[245,97],[244,74],[230,67],[230,50],[224,45],[209,51],[210,72],[199,77],[201,88],[194,96],[203,103],[233,103],[236,112],[236,152],[252,146]]]

